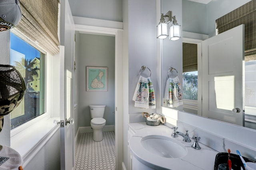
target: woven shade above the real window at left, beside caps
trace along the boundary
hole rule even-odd
[[[22,18],[16,28],[48,53],[59,53],[58,0],[20,0]]]

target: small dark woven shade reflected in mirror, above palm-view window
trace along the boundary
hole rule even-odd
[[[197,44],[182,43],[183,72],[197,71]]]

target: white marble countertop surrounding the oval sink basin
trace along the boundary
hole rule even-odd
[[[170,127],[167,127],[161,123],[159,126],[149,126],[146,125],[145,122],[141,122],[129,123],[129,130],[134,133],[134,135],[128,141],[133,156],[150,168],[157,170],[214,170],[215,156],[218,154],[218,152],[207,147],[206,145],[203,145],[200,143],[200,141],[199,145],[201,149],[196,150],[191,147],[191,145],[194,143],[193,139],[191,139],[191,142],[184,142],[182,141],[183,137],[178,136],[174,139],[186,147],[186,156],[181,158],[164,158],[146,150],[141,145],[140,141],[142,137],[147,135],[162,135],[171,137],[173,130]],[[157,147],[158,144],[154,143],[152,145],[156,145]]]

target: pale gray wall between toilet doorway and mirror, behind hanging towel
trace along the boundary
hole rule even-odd
[[[123,2],[124,27],[124,112],[123,112],[123,151],[127,166],[128,124],[139,122],[142,111],[154,113],[156,109],[134,107],[132,97],[138,83],[139,71],[145,65],[151,70],[151,80],[155,93],[156,82],[156,0],[125,0]],[[127,66],[128,64],[128,66]],[[160,100],[157,99],[156,100]],[[143,120],[143,119],[142,119]]]

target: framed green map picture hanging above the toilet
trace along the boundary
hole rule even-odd
[[[86,91],[108,91],[108,68],[86,66]]]

